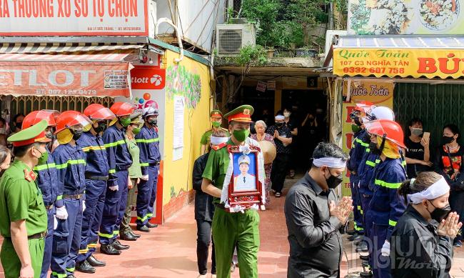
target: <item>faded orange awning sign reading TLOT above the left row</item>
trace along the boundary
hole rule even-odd
[[[1,94],[129,96],[128,63],[2,62]]]

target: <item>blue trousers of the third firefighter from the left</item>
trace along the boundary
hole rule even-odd
[[[86,179],[86,210],[83,212],[81,247],[77,262],[84,262],[95,252],[97,233],[101,222],[101,207],[104,204],[105,194],[106,181]],[[91,252],[89,244],[91,244],[90,248],[93,252]]]

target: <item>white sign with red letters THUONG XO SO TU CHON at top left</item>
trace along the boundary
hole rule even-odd
[[[148,36],[146,0],[0,0],[0,36]]]

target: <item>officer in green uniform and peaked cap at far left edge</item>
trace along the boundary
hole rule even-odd
[[[46,162],[47,122],[9,137],[14,163],[0,180],[0,234],[4,237],[0,260],[6,278],[39,278],[44,258],[47,216],[37,187],[37,164]]]

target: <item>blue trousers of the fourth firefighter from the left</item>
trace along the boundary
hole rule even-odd
[[[119,225],[126,210],[128,172],[127,170],[116,171],[114,175],[117,177],[118,190],[106,189],[103,217],[101,218],[99,232],[101,244],[111,244],[118,237]]]

